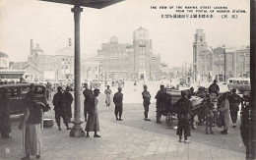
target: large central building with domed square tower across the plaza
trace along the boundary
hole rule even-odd
[[[160,79],[160,55],[152,53],[149,30],[140,27],[133,32],[133,45],[118,43],[117,37],[102,43],[97,56],[103,77],[108,79]]]

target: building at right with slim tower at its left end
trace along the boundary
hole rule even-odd
[[[224,81],[249,77],[250,48],[208,47],[203,29],[197,29],[193,43],[193,79]]]

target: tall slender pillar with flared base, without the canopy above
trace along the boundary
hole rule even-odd
[[[71,10],[75,21],[75,120],[70,136],[85,136],[81,124],[81,60],[80,60],[80,13],[83,9],[75,5]]]

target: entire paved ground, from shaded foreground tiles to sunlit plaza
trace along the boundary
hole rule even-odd
[[[153,99],[159,89],[159,84],[149,85]],[[113,92],[117,89],[112,88]],[[98,97],[99,128],[101,135],[95,138],[70,137],[70,131],[53,128],[42,132],[43,152],[41,159],[170,159],[170,160],[242,160],[245,159],[244,146],[237,128],[229,128],[228,134],[220,133],[222,129],[214,128],[215,134],[205,134],[205,126],[193,130],[190,139],[192,143],[178,142],[176,130],[162,124],[156,124],[156,104],[150,106],[150,119],[144,121],[141,99],[141,86],[133,91],[132,85],[124,88],[124,121],[116,121],[113,104],[104,105],[103,90]],[[133,91],[133,92],[132,92]],[[82,98],[83,100],[83,98]],[[82,110],[83,111],[83,110]],[[83,114],[83,113],[82,113]],[[45,114],[45,118],[53,118],[54,112]],[[82,116],[82,119],[84,117]],[[0,159],[20,159],[23,157],[23,133],[17,129],[19,116],[12,117],[12,138],[0,139]],[[175,122],[176,123],[176,122]],[[85,123],[82,124],[85,128]],[[231,124],[230,124],[231,127]]]

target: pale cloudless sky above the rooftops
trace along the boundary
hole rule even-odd
[[[144,27],[150,31],[153,53],[171,66],[192,63],[193,41],[197,28],[204,29],[206,41],[213,48],[225,45],[249,45],[249,0],[125,0],[103,9],[84,8],[81,13],[81,54],[94,55],[102,43],[117,36],[119,43],[133,43],[133,31]],[[157,6],[158,9],[151,9]],[[245,10],[237,19],[162,19],[175,14],[160,6],[211,6],[228,10]],[[0,0],[0,52],[10,61],[27,61],[30,43],[38,43],[44,54],[54,55],[66,47],[68,38],[74,44],[74,15],[71,5],[38,0]],[[210,10],[208,10],[210,11]],[[186,11],[185,11],[186,12]],[[194,10],[195,12],[195,10]],[[216,11],[215,11],[216,12]],[[185,13],[187,14],[187,13]]]

